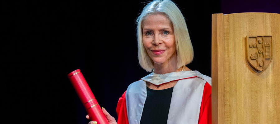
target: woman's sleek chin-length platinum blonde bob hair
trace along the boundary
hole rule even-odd
[[[194,58],[194,49],[189,38],[189,32],[184,16],[174,2],[170,0],[154,0],[143,8],[141,14],[137,18],[138,59],[140,66],[147,72],[152,72],[152,69],[154,69],[154,62],[143,46],[142,22],[149,15],[157,14],[166,16],[166,18],[173,24],[177,68],[179,69],[183,65],[189,64]]]

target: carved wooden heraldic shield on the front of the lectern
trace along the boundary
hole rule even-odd
[[[271,36],[246,36],[247,60],[254,69],[262,71],[272,60]]]

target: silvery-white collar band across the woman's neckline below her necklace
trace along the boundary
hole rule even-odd
[[[171,81],[198,77],[199,74],[200,73],[198,71],[178,71],[165,74],[150,73],[149,75],[141,78],[140,80],[150,82],[156,86],[159,86]]]

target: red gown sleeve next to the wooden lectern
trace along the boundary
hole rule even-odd
[[[203,96],[200,106],[200,113],[198,118],[198,124],[211,124],[212,112],[211,112],[211,86],[206,82],[203,90]]]

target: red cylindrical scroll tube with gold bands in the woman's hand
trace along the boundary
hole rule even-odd
[[[86,112],[91,118],[91,121],[96,121],[98,124],[109,124],[80,69],[72,71],[67,76],[86,108]]]

